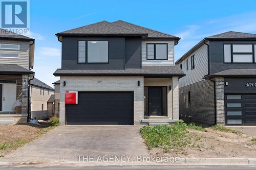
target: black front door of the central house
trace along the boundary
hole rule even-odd
[[[162,87],[148,87],[148,113],[162,116]]]

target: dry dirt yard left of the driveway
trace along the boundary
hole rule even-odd
[[[33,139],[45,134],[53,127],[49,123],[0,126],[0,157],[22,147]]]

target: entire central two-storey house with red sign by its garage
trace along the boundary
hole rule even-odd
[[[56,36],[62,43],[61,69],[54,72],[60,77],[60,125],[168,124],[179,119],[178,80],[184,76],[174,65],[179,37],[122,20]],[[68,104],[73,102],[77,104]]]

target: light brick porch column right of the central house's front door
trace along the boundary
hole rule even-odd
[[[173,77],[173,119],[179,119],[179,77]]]

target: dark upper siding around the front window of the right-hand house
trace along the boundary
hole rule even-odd
[[[224,63],[223,44],[237,43],[237,44],[256,44],[256,41],[210,41],[210,74],[224,71],[227,69],[255,69],[256,63]]]

